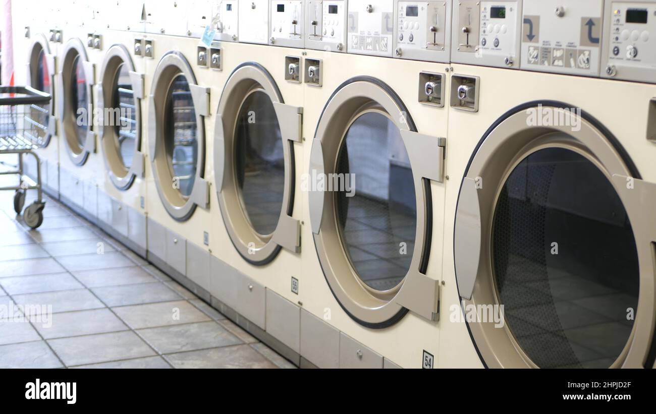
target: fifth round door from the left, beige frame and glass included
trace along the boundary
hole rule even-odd
[[[233,71],[216,110],[221,216],[237,252],[253,265],[270,263],[283,247],[300,251],[299,223],[292,217],[298,110],[283,102],[270,73],[253,62]]]

